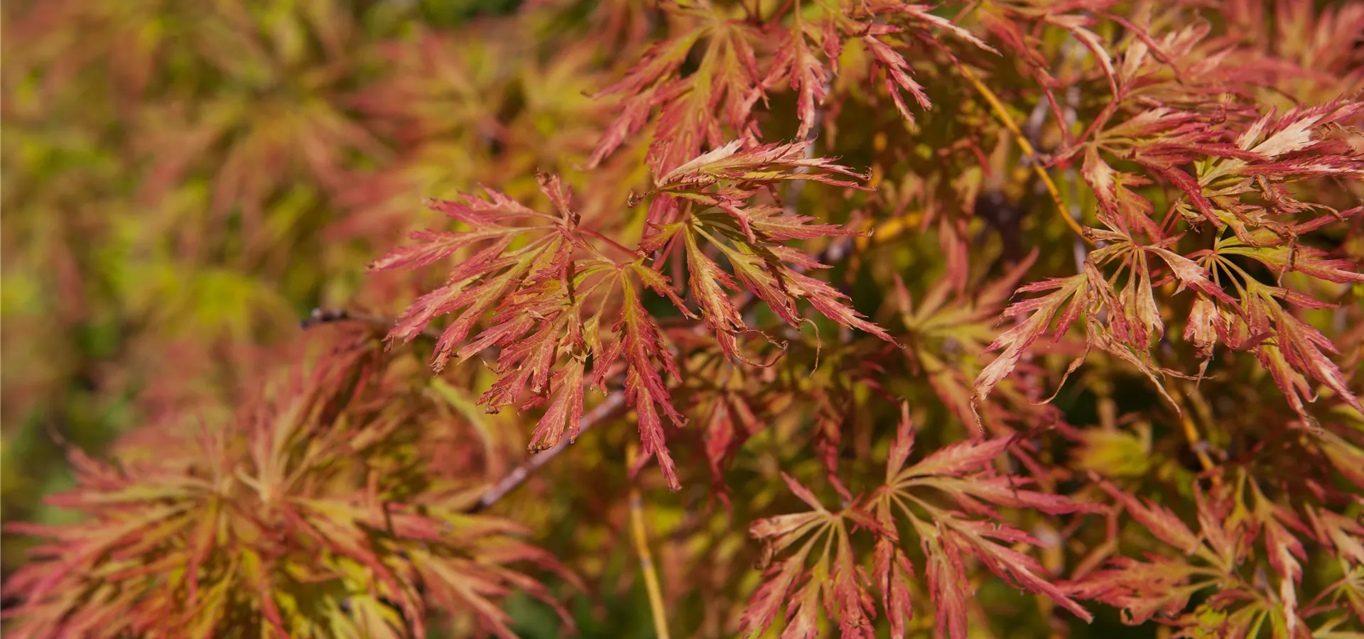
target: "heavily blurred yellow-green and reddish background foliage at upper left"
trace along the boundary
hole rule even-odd
[[[405,292],[357,298],[375,247],[430,222],[419,195],[591,144],[606,63],[550,60],[574,25],[517,4],[4,3],[0,520],[61,518],[63,443],[100,451],[188,379],[216,392],[229,350],[315,307]],[[509,138],[543,155],[496,161]],[[0,541],[0,580],[20,559]]]

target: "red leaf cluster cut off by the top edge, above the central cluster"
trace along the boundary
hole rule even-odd
[[[753,108],[768,91],[788,86],[797,93],[798,139],[814,131],[817,104],[847,42],[858,42],[873,57],[873,74],[884,71],[895,106],[913,120],[900,91],[921,108],[929,98],[910,76],[904,56],[887,38],[913,38],[937,45],[932,29],[948,29],[988,50],[970,31],[930,12],[933,7],[898,1],[812,3],[810,11],[787,3],[771,15],[764,7],[719,3],[662,3],[677,33],[655,42],[625,76],[599,91],[617,97],[618,116],[592,153],[592,165],[615,151],[653,120],[651,168],[666,173],[705,149],[719,149],[727,136],[761,136]],[[807,15],[809,14],[809,15]],[[790,25],[783,22],[790,18]],[[762,49],[764,56],[758,56]],[[683,63],[697,54],[697,67]],[[657,110],[657,116],[652,113]],[[726,132],[728,131],[728,135]]]

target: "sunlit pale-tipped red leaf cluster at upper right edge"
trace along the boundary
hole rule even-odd
[[[1098,219],[1106,229],[1088,229],[1087,237],[1101,241],[1102,248],[1088,253],[1083,272],[1020,289],[1052,293],[1020,301],[1005,312],[1005,317],[1027,319],[990,345],[990,350],[1003,352],[977,379],[978,399],[1008,375],[1022,353],[1053,320],[1057,322],[1054,334],[1058,339],[1082,317],[1090,346],[1138,367],[1165,394],[1157,375],[1170,371],[1157,367],[1150,356],[1151,346],[1165,335],[1165,323],[1153,293],[1153,279],[1163,279],[1178,285],[1174,293],[1188,289],[1196,296],[1184,338],[1196,346],[1202,357],[1211,357],[1218,343],[1255,353],[1304,421],[1312,421],[1303,402],[1304,395],[1312,394],[1305,376],[1334,391],[1356,410],[1364,410],[1346,387],[1339,368],[1322,353],[1322,349],[1335,350],[1331,342],[1284,308],[1284,302],[1299,308],[1329,308],[1331,304],[1270,286],[1230,259],[1249,258],[1279,278],[1286,272],[1301,272],[1330,282],[1364,282],[1364,274],[1354,272],[1352,262],[1322,259],[1326,255],[1323,251],[1297,244],[1300,236],[1364,208],[1337,211],[1324,204],[1303,203],[1282,185],[1309,177],[1359,177],[1364,172],[1364,157],[1322,136],[1329,131],[1327,125],[1350,121],[1361,109],[1364,105],[1349,102],[1299,109],[1281,117],[1270,113],[1241,131],[1234,143],[1217,142],[1230,136],[1225,123],[1214,127],[1194,113],[1163,108],[1146,110],[1095,134],[1094,143],[1084,151],[1084,176],[1094,187],[1099,202]],[[1157,135],[1158,142],[1132,142]],[[1114,140],[1123,142],[1113,146]],[[1183,234],[1162,232],[1148,217],[1150,203],[1124,187],[1142,184],[1144,178],[1113,170],[1101,159],[1101,150],[1121,151],[1178,187],[1188,202],[1172,207],[1166,225],[1178,219],[1176,214],[1195,228],[1209,222],[1219,236],[1213,248],[1188,255],[1172,251]],[[1161,159],[1147,159],[1153,157]],[[1199,161],[1196,178],[1176,168],[1196,158],[1206,158]],[[1263,204],[1243,202],[1247,193],[1262,198]],[[1323,215],[1294,221],[1297,215],[1323,208]],[[1289,221],[1279,221],[1284,217]],[[1226,229],[1230,236],[1226,236]],[[1116,268],[1106,274],[1103,267],[1113,264]],[[1124,272],[1125,285],[1118,290]],[[1224,290],[1226,285],[1236,296]],[[1106,322],[1099,319],[1101,315],[1106,316]],[[1078,365],[1079,360],[1072,369]]]

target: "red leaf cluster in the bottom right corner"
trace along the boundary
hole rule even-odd
[[[1199,522],[1194,533],[1169,510],[1109,482],[1101,486],[1135,523],[1180,552],[1113,557],[1068,586],[1073,595],[1121,608],[1128,624],[1161,616],[1181,628],[1181,636],[1254,638],[1264,627],[1271,636],[1296,638],[1329,632],[1348,623],[1348,614],[1364,613],[1359,583],[1364,527],[1349,516],[1314,505],[1299,512],[1270,500],[1256,480],[1241,474],[1234,484],[1214,484],[1211,495],[1194,488]],[[1342,575],[1311,602],[1300,602],[1297,594],[1308,560],[1304,541],[1327,549]],[[1277,586],[1263,563],[1277,575]],[[1188,610],[1189,599],[1206,590],[1211,594]],[[1326,621],[1311,628],[1307,620],[1316,616]]]

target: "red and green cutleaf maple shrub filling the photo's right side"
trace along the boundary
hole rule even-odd
[[[368,275],[72,452],[7,636],[1364,636],[1364,3],[381,49],[262,138]],[[274,223],[252,157],[205,204]]]

